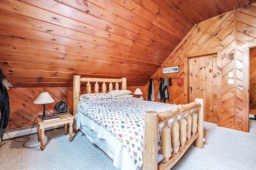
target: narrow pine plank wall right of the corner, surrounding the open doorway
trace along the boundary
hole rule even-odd
[[[235,127],[241,131],[248,131],[248,120],[245,122],[243,112],[243,52],[242,44],[256,42],[256,3],[238,8],[236,11],[236,108],[235,108]],[[250,64],[250,69],[255,69],[255,63]],[[247,89],[245,89],[247,91]]]

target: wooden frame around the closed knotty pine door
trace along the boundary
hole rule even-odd
[[[212,50],[212,51],[204,51],[201,53],[193,53],[193,54],[186,54],[184,55],[184,101],[188,103],[188,94],[189,94],[189,87],[188,87],[188,81],[189,81],[189,75],[188,75],[188,70],[189,70],[189,62],[188,60],[193,57],[200,57],[200,56],[205,56],[205,55],[212,55],[212,54],[217,54],[217,125],[221,126],[221,118],[222,118],[222,109],[221,109],[221,99],[222,99],[222,94],[221,94],[221,84],[222,84],[222,49],[217,49],[217,50]]]

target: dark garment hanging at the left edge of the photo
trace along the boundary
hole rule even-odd
[[[0,137],[1,140],[4,136],[5,129],[8,125],[9,116],[10,116],[10,104],[9,104],[9,96],[7,93],[6,87],[2,84],[2,80],[5,78],[5,76],[2,73],[2,70],[0,68],[0,113],[1,113],[1,119],[0,119]]]

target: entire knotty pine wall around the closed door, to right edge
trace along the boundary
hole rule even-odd
[[[221,102],[218,103],[218,126],[248,131],[248,113],[243,112],[243,48],[242,44],[256,42],[256,3],[227,12],[196,24],[176,47],[162,66],[152,76],[157,91],[159,78],[181,77],[184,82],[185,55],[221,51]],[[216,52],[217,53],[217,52]],[[180,66],[179,73],[162,74],[162,68]],[[256,64],[251,64],[255,66]],[[228,84],[228,72],[234,73],[234,84]],[[186,83],[186,82],[185,82]],[[144,91],[148,89],[147,83]],[[171,101],[167,103],[184,104],[187,101],[184,86],[179,87],[177,80],[169,86]],[[248,89],[245,89],[246,91]],[[157,100],[159,101],[159,100]],[[246,118],[244,118],[246,114]]]

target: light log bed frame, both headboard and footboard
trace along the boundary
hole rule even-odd
[[[108,91],[113,90],[113,83],[115,84],[115,90],[119,90],[119,84],[121,83],[121,89],[126,89],[126,78],[113,79],[113,78],[81,78],[81,76],[74,76],[73,80],[73,115],[77,113],[76,105],[80,98],[81,82],[87,82],[86,91],[92,93],[90,82],[95,83],[94,93],[100,91],[98,82],[102,83],[101,92],[107,92],[106,83],[109,83]],[[195,102],[189,104],[178,105],[175,109],[164,112],[146,111],[145,113],[145,135],[144,135],[144,153],[143,153],[143,170],[169,170],[178,162],[186,150],[195,142],[195,146],[202,149],[204,147],[204,101],[203,99],[196,99]],[[180,115],[190,115],[186,119],[180,119],[180,123],[175,127],[176,123],[172,123],[174,127],[172,130],[168,126],[168,120],[177,119]],[[164,160],[157,162],[157,140],[158,140],[158,125],[164,123],[161,132],[162,139],[162,155]],[[74,129],[76,129],[76,123],[74,123]],[[189,130],[188,130],[189,129]],[[187,133],[187,130],[190,133]],[[179,132],[179,133],[177,133]],[[176,135],[175,135],[176,134]],[[184,138],[184,135],[186,136]],[[188,137],[187,136],[191,136]],[[171,137],[172,141],[171,142]],[[175,139],[178,138],[178,145],[175,143]],[[174,151],[171,153],[171,146]],[[176,147],[175,147],[176,146]],[[176,149],[175,149],[176,148]],[[174,153],[175,152],[175,153]]]

